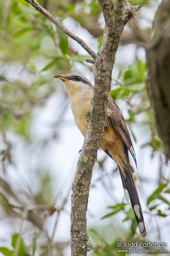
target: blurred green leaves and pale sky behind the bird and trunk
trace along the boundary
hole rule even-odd
[[[98,51],[104,19],[97,0],[38,2]],[[91,256],[125,255],[117,242],[164,242],[170,250],[170,168],[156,133],[145,53],[160,1],[129,2],[142,6],[124,28],[111,96],[134,144],[147,237],[125,202],[116,163],[99,151],[87,211]],[[53,77],[79,73],[93,84],[94,67],[77,42],[24,0],[0,0],[0,45],[0,255],[69,256],[71,183],[84,138]]]

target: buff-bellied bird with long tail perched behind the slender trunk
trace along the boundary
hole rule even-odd
[[[84,113],[91,109],[93,85],[81,74],[55,75],[54,77],[64,82],[75,124],[85,137],[88,129],[88,120],[85,118]],[[110,96],[108,98],[104,132],[99,148],[117,163],[126,202],[129,202],[130,198],[139,231],[144,238],[146,236],[146,227],[132,175],[135,170],[130,164],[128,152],[131,153],[137,167],[136,155],[124,117],[118,105]]]

